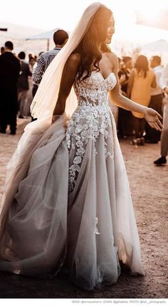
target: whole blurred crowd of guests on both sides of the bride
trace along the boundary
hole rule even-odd
[[[30,105],[41,83],[43,73],[68,41],[68,33],[63,30],[56,31],[53,41],[56,47],[51,51],[41,52],[38,56],[26,54],[24,51],[17,55],[12,53],[14,46],[11,41],[7,41],[5,46],[1,47],[1,133],[6,133],[9,125],[11,134],[16,134],[16,117],[23,119],[31,116]],[[120,93],[141,105],[152,107],[163,115],[164,103],[167,103],[167,76],[162,80],[164,74],[162,59],[159,56],[152,56],[148,60],[146,56],[140,55],[136,60],[132,60],[130,56],[124,56],[118,58],[118,62]],[[136,146],[144,145],[145,142],[152,144],[159,142],[161,133],[147,125],[144,115],[124,110],[112,103],[110,107],[115,117],[119,137],[132,136],[131,143]],[[168,142],[167,137],[166,142]],[[167,153],[167,144],[164,155],[165,152]]]

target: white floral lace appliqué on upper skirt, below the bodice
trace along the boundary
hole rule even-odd
[[[77,109],[73,113],[68,124],[66,131],[67,146],[69,150],[75,150],[73,165],[69,168],[69,191],[72,191],[75,186],[88,139],[92,139],[95,143],[100,134],[104,135],[105,140],[109,137],[107,128],[112,128],[109,110],[108,112],[107,110],[100,112],[98,108],[92,105],[80,107],[80,111]],[[104,141],[104,144],[105,158],[109,157],[112,159],[114,156],[113,149],[112,152],[109,152],[107,150],[107,142]],[[95,156],[97,154],[98,152],[95,148]]]

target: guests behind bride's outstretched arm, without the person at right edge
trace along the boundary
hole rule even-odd
[[[152,107],[162,115],[164,92],[159,79],[164,68],[161,58],[152,56],[148,60],[146,56],[140,55],[134,63],[130,56],[125,56],[119,58],[119,67],[118,78],[122,95],[141,105]],[[120,137],[127,138],[135,134],[132,144],[137,145],[159,142],[160,132],[149,127],[142,114],[117,107],[114,112]]]

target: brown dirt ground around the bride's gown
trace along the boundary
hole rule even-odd
[[[0,196],[4,191],[6,164],[28,120],[18,120],[18,134],[0,134]],[[166,298],[168,297],[167,217],[168,165],[155,167],[159,144],[132,147],[131,138],[120,141],[130,181],[132,200],[142,247],[145,277],[123,271],[116,285],[87,292],[75,287],[68,277],[37,280],[0,273],[0,297],[46,298]]]

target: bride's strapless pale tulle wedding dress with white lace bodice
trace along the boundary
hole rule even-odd
[[[93,71],[75,79],[78,107],[27,154],[1,238],[0,269],[53,276],[66,268],[86,290],[116,283],[120,261],[143,275],[140,241],[108,92]]]

